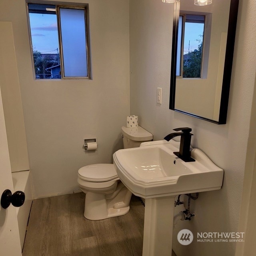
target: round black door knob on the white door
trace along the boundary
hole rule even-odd
[[[12,204],[15,207],[20,207],[24,204],[25,194],[22,191],[16,191],[12,194],[11,190],[4,190],[1,196],[1,206],[6,209]]]

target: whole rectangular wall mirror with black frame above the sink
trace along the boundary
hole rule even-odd
[[[170,109],[226,123],[238,0],[174,4]]]

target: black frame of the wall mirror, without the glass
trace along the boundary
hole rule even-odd
[[[232,62],[234,55],[234,44],[236,37],[236,22],[238,15],[239,0],[230,0],[230,12],[228,20],[228,37],[226,45],[226,54],[224,62],[224,73],[222,80],[222,92],[220,100],[220,114],[219,120],[211,120],[202,116],[197,116],[189,112],[176,109],[175,106],[175,86],[176,86],[176,58],[177,58],[177,45],[178,41],[178,19],[180,14],[180,2],[174,4],[173,10],[173,30],[172,30],[172,60],[171,60],[171,82],[170,82],[170,105],[169,108],[176,112],[194,116],[202,120],[206,120],[215,124],[226,124],[227,112],[228,112],[228,98],[230,89],[230,80],[232,73]]]

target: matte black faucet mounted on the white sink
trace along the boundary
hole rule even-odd
[[[164,137],[165,140],[169,141],[176,136],[181,136],[180,138],[180,151],[173,152],[176,156],[182,159],[184,162],[194,162],[195,160],[190,156],[190,142],[191,136],[193,135],[190,133],[192,131],[191,128],[184,127],[184,128],[176,128],[173,129],[176,132],[170,133]],[[178,132],[182,131],[182,132]]]

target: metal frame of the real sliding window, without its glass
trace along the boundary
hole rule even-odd
[[[61,70],[61,78],[60,79],[36,79],[36,71],[34,65],[34,56],[33,56],[33,45],[32,45],[32,34],[30,29],[30,18],[29,18],[29,10],[28,4],[42,4],[42,5],[54,5],[56,8],[56,16],[57,16],[57,28],[58,28],[58,41],[59,41],[59,49],[60,49],[60,70]],[[63,62],[63,49],[62,49],[62,37],[61,37],[61,22],[60,22],[60,8],[67,8],[67,9],[79,9],[84,10],[84,21],[85,21],[85,38],[86,38],[86,59],[87,59],[87,76],[64,76],[64,62]],[[31,52],[31,59],[33,64],[33,75],[34,80],[91,80],[91,52],[90,52],[90,33],[89,33],[89,12],[88,12],[88,4],[84,5],[68,5],[68,4],[52,4],[51,2],[45,1],[26,1],[26,9],[27,9],[27,20],[28,20],[28,32],[29,32],[29,40],[30,40],[30,52]]]

